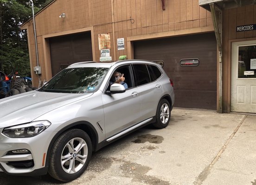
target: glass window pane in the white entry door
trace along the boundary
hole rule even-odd
[[[256,78],[256,45],[238,47],[238,78]]]

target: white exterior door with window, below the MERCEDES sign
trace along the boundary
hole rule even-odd
[[[256,113],[256,40],[232,43],[231,111]]]

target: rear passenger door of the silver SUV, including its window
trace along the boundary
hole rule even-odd
[[[160,80],[157,80],[150,65],[133,64],[135,86],[141,92],[141,120],[153,117],[162,96],[163,89]],[[150,72],[150,73],[149,73]]]

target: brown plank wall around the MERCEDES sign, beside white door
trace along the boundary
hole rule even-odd
[[[223,111],[230,112],[231,42],[256,40],[256,31],[237,32],[237,26],[256,24],[256,6],[223,11]]]

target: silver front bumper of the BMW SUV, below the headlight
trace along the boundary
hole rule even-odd
[[[15,175],[47,172],[47,151],[55,132],[43,131],[29,138],[8,138],[2,134],[2,130],[0,129],[0,172]],[[29,152],[24,153],[24,150]]]

